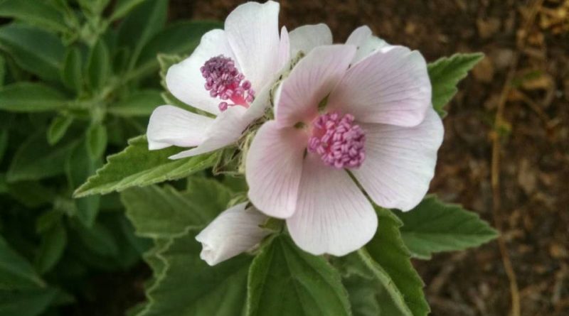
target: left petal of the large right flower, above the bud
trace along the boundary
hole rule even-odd
[[[278,218],[294,213],[308,136],[292,127],[278,129],[275,121],[261,126],[245,164],[249,199],[261,212]]]

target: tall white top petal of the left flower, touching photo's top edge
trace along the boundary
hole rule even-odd
[[[225,33],[243,74],[260,91],[277,72],[279,58],[279,4],[248,2],[225,19]]]

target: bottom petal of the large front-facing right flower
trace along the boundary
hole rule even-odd
[[[371,203],[348,173],[324,165],[309,153],[297,210],[287,219],[294,242],[311,254],[344,256],[370,241],[377,225]]]

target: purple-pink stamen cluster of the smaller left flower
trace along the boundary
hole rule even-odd
[[[239,72],[231,58],[223,55],[212,57],[201,66],[200,70],[206,79],[205,87],[211,97],[223,100],[219,103],[220,111],[235,105],[249,107],[249,103],[255,99],[251,82],[245,80],[245,75]],[[228,100],[233,104],[228,103]]]

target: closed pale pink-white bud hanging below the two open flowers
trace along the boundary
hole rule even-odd
[[[203,246],[200,257],[210,266],[252,249],[270,233],[259,227],[267,217],[254,207],[245,209],[245,205],[223,211],[196,236]]]

